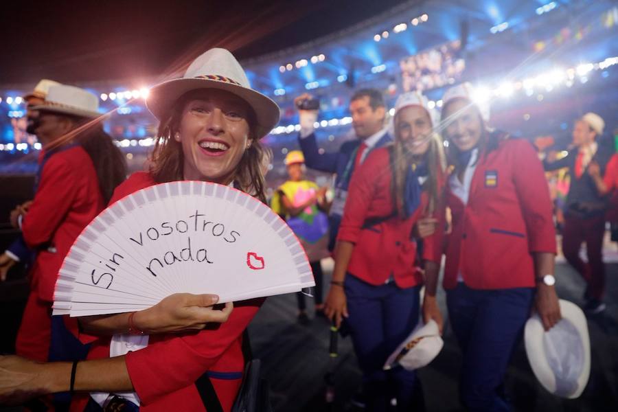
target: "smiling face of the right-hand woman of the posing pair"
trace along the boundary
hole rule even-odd
[[[483,133],[481,115],[466,99],[454,99],[442,109],[442,118],[449,119],[444,133],[462,152],[477,146]]]

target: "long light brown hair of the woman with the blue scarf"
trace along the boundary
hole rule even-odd
[[[395,200],[395,206],[400,217],[404,217],[404,186],[408,168],[415,163],[417,159],[412,155],[404,143],[398,139],[397,131],[395,131],[395,140],[389,147],[391,151],[390,162],[391,170],[393,171],[393,179],[391,179],[391,195]],[[429,201],[423,214],[433,214],[437,208],[438,198],[440,196],[440,182],[444,176],[444,168],[446,159],[444,156],[444,146],[442,139],[437,133],[431,134],[429,147],[427,152],[422,155],[427,162],[427,180],[423,184],[423,190],[429,194]]]

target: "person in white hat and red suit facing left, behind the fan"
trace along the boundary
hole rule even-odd
[[[25,244],[36,251],[36,259],[16,352],[47,361],[60,265],[82,229],[104,207],[93,162],[71,135],[79,119],[98,117],[98,98],[77,87],[55,85],[45,102],[32,109],[38,112],[34,131],[43,150],[34,200],[20,220]]]

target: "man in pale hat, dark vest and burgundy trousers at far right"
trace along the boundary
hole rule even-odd
[[[603,146],[605,122],[596,113],[586,113],[573,128],[573,148],[560,160],[543,162],[545,170],[569,168],[571,185],[564,209],[562,253],[567,262],[586,280],[584,310],[597,314],[605,309],[605,264],[603,237],[608,198],[597,190],[595,175],[603,176],[615,150]],[[588,262],[580,258],[582,242],[586,242]]]

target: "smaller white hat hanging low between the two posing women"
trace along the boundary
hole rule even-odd
[[[433,361],[443,346],[444,341],[437,323],[433,319],[424,325],[419,322],[410,336],[389,356],[384,369],[388,370],[397,365],[409,371],[424,367]]]

